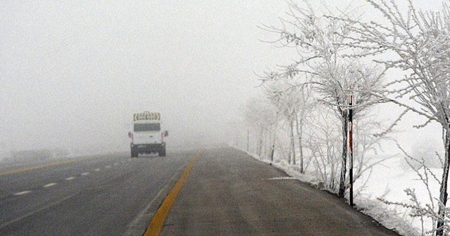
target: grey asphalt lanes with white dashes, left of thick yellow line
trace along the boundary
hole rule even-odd
[[[136,235],[130,229],[136,218],[181,173],[193,153],[2,166],[0,235]],[[145,229],[149,220],[140,221],[137,228]]]

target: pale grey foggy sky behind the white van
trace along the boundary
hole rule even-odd
[[[257,27],[287,6],[0,1],[0,151],[128,151],[143,111],[161,112],[169,146],[226,141],[257,94],[255,72],[293,58]]]

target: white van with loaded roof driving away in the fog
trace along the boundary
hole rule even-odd
[[[129,132],[131,158],[139,154],[158,153],[160,157],[166,156],[165,137],[167,131],[161,129],[160,112],[141,112],[133,114],[132,132]]]

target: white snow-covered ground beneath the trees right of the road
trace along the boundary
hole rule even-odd
[[[262,162],[270,163],[269,160],[260,159],[252,153],[249,153],[249,155]],[[297,166],[290,165],[287,162],[275,162],[272,164],[300,181],[316,186],[319,185],[319,181],[314,176],[301,174]],[[442,175],[442,170],[431,170],[437,178],[440,178]],[[423,173],[423,171],[419,171],[419,173]],[[433,197],[439,197],[439,185],[432,176],[429,176],[429,178],[429,187],[433,192]],[[430,195],[426,186],[420,181],[416,171],[406,164],[403,155],[391,157],[382,164],[374,166],[370,175],[367,173],[366,176],[356,181],[354,188],[354,203],[360,211],[372,216],[385,227],[395,230],[401,235],[422,235],[422,221],[420,221],[420,218],[409,216],[410,211],[403,206],[388,205],[378,200],[379,197],[382,197],[390,202],[411,204],[410,197],[404,192],[404,190],[410,188],[415,190],[422,206],[430,203]],[[424,219],[423,226],[424,232],[430,230],[432,227],[431,220]]]

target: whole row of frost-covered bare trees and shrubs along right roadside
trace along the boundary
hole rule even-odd
[[[439,124],[442,130],[436,135],[444,155],[409,154],[398,145],[429,201],[420,202],[413,189],[405,190],[408,202],[379,201],[418,218],[419,235],[450,235],[450,8],[423,12],[411,0],[404,8],[394,0],[366,3],[382,20],[290,1],[279,25],[261,26],[273,33],[271,44],[292,48],[297,57],[259,74],[261,96],[245,109],[248,151],[314,176],[319,188],[348,199],[354,182],[385,160],[377,155],[383,142],[395,142],[395,126],[416,114],[425,122],[411,129]],[[398,109],[383,121],[377,107],[386,104]],[[425,159],[434,159],[439,173]]]

